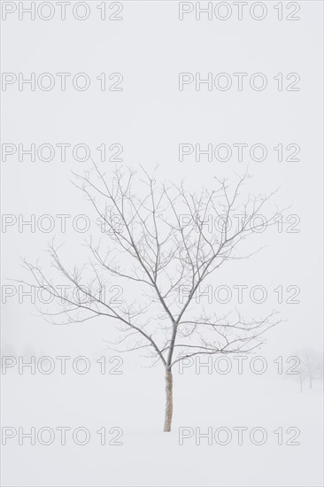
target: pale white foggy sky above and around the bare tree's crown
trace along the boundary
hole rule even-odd
[[[179,143],[264,143],[269,152],[280,142],[301,146],[298,163],[279,163],[274,151],[263,163],[251,161],[255,177],[248,182],[255,192],[281,186],[276,203],[292,205],[289,213],[300,216],[300,233],[266,232],[264,251],[224,267],[212,278],[213,285],[261,283],[274,289],[278,284],[296,284],[301,288],[300,305],[278,307],[288,323],[268,336],[274,350],[278,339],[290,351],[304,343],[318,344],[321,336],[321,52],[320,14],[316,13],[320,9],[320,2],[304,4],[297,22],[278,22],[270,16],[259,22],[197,22],[192,16],[179,21],[177,3],[127,2],[121,22],[100,22],[94,16],[84,23],[35,20],[32,28],[31,21],[14,16],[3,22],[4,72],[86,72],[92,81],[86,92],[72,88],[64,93],[57,88],[20,92],[9,86],[3,93],[4,143],[87,143],[91,150],[100,143],[121,143],[125,164],[146,168],[158,164],[160,179],[185,177],[190,187],[197,188],[213,175],[242,174],[247,159],[220,163],[203,158],[197,163],[185,158],[181,163]],[[18,32],[23,43],[17,42]],[[122,73],[124,90],[100,91],[95,78],[102,72]],[[180,92],[180,72],[201,72],[202,77],[208,72],[262,72],[270,81],[276,73],[297,72],[302,81],[299,92],[279,92],[274,81],[272,88],[262,92],[192,87]],[[26,217],[89,213],[70,182],[70,171],[83,171],[87,163],[71,159],[33,163],[28,158],[22,162],[16,156],[8,158],[3,163],[3,213]],[[106,163],[107,171],[111,167]],[[36,259],[54,234],[58,243],[73,239],[77,244],[83,237],[67,238],[68,234],[55,230],[48,235],[31,234],[28,229],[19,234],[17,226],[8,228],[3,234],[4,278],[21,277],[18,256]],[[33,337],[40,345],[44,340],[44,346],[49,336],[51,343],[56,341],[58,331],[48,326],[43,331],[42,320],[30,316],[30,306],[17,306],[14,299],[9,303],[4,329],[8,340],[22,345]],[[255,306],[251,305],[251,313]],[[94,323],[85,326],[84,333],[98,339],[108,330]]]

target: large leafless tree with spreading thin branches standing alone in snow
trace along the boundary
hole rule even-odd
[[[103,237],[90,238],[89,264],[67,267],[50,245],[51,266],[77,293],[66,292],[64,300],[53,275],[37,263],[25,260],[36,286],[56,298],[57,313],[42,311],[54,323],[67,324],[106,317],[120,323],[122,337],[114,346],[120,352],[144,351],[152,365],[160,362],[166,370],[166,414],[164,431],[171,430],[173,416],[173,374],[175,364],[197,355],[251,352],[262,342],[267,329],[277,322],[275,312],[246,321],[240,315],[219,316],[194,313],[194,297],[199,286],[224,263],[250,257],[239,253],[248,236],[260,225],[271,226],[278,210],[261,219],[268,196],[241,196],[244,181],[234,186],[214,179],[214,189],[189,192],[183,182],[158,183],[142,170],[141,178],[129,168],[120,168],[108,178],[94,163],[85,175],[74,174],[99,218]],[[240,218],[237,218],[240,215]],[[210,218],[218,227],[210,228]],[[265,228],[264,228],[265,229]],[[109,244],[109,247],[107,246]],[[121,305],[106,302],[101,292],[107,278],[135,282],[141,286],[140,304],[128,300]],[[30,284],[30,282],[28,282]],[[180,299],[185,290],[185,299]],[[182,292],[183,296],[183,292]],[[56,318],[53,318],[56,316]],[[59,320],[59,321],[58,321]],[[124,350],[120,345],[127,344]]]

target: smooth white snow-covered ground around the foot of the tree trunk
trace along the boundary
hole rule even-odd
[[[100,375],[98,364],[92,365],[87,375],[71,370],[66,375],[19,375],[12,369],[2,376],[3,428],[17,429],[3,445],[3,485],[322,485],[319,384],[301,394],[298,383],[275,374],[184,371],[174,377],[174,425],[168,434],[162,432],[162,368],[145,369],[124,359],[122,375]],[[25,433],[35,427],[35,445],[28,438],[19,445],[19,426]],[[43,427],[54,431],[49,445],[42,444],[50,438],[48,431],[37,439]],[[57,427],[71,428],[65,445]],[[72,432],[80,427],[90,435],[84,445],[73,442]],[[103,427],[105,445],[96,433]],[[109,432],[113,427],[118,429]],[[247,428],[242,444],[238,427]],[[181,428],[188,436],[182,444]],[[196,428],[203,434],[212,428],[212,444],[207,437],[197,444]],[[220,428],[226,429],[217,437]],[[251,441],[254,428],[262,430]],[[80,431],[77,441],[84,438]],[[262,440],[264,444],[256,444]]]

